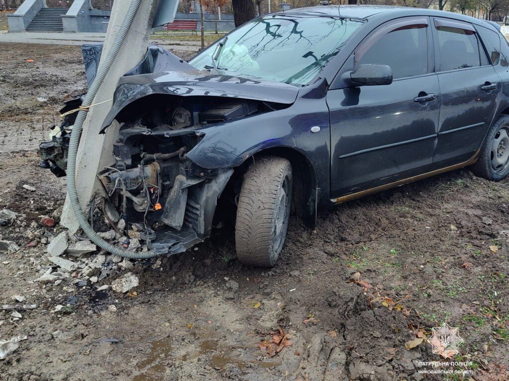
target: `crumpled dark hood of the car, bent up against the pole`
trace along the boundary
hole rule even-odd
[[[166,71],[151,72],[161,68]],[[101,133],[124,107],[151,94],[214,96],[292,104],[298,93],[298,87],[286,83],[227,74],[220,70],[196,70],[167,50],[151,46],[145,59],[120,78]]]

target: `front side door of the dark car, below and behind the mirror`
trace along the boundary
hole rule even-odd
[[[440,106],[431,39],[427,17],[385,23],[338,73],[348,76],[360,64],[388,65],[393,81],[328,91],[332,198],[360,195],[431,167]]]

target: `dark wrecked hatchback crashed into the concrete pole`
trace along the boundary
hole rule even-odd
[[[119,82],[100,179],[154,251],[230,212],[239,259],[270,267],[292,205],[313,226],[320,208],[437,173],[505,178],[508,60],[495,24],[380,6],[265,15],[189,63],[150,47]]]

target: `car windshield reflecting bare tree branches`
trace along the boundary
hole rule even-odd
[[[363,20],[273,15],[240,26],[197,54],[197,69],[230,71],[272,81],[308,83],[341,50]]]

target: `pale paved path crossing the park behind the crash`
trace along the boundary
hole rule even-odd
[[[104,42],[105,36],[105,33],[0,33],[0,43],[13,42],[81,46],[86,43]],[[168,50],[197,51],[200,48],[200,42],[197,41],[153,39],[150,40],[149,43],[160,45]]]

